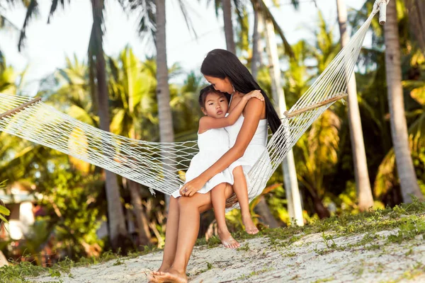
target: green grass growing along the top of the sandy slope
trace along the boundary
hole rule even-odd
[[[282,248],[290,246],[304,236],[312,233],[322,233],[326,248],[323,250],[316,249],[319,254],[331,253],[334,250],[345,250],[357,246],[363,246],[365,250],[374,250],[382,248],[382,245],[385,245],[385,243],[381,245],[372,243],[375,239],[379,238],[376,235],[379,231],[399,229],[397,235],[387,237],[387,244],[402,243],[416,237],[425,238],[424,213],[425,202],[419,202],[419,200],[414,199],[411,204],[401,204],[394,208],[387,207],[386,209],[370,210],[369,212],[360,214],[341,214],[340,216],[332,216],[328,219],[307,223],[302,227],[288,226],[277,229],[262,229],[256,235],[250,235],[245,233],[245,231],[238,231],[233,233],[233,236],[238,241],[266,237],[270,240],[272,247]],[[363,233],[365,233],[365,236],[358,243],[337,246],[334,241],[335,238],[341,236],[355,236]],[[196,241],[197,246],[206,246],[207,248],[214,248],[220,244],[220,239],[217,236],[212,236],[208,241],[205,238],[200,238]],[[152,253],[154,250],[157,250],[157,248],[146,246],[143,252],[131,253],[125,258],[135,258],[140,255]],[[239,250],[249,250],[249,246],[242,246]],[[288,256],[294,255],[288,254]],[[19,263],[12,262],[12,265],[0,267],[0,282],[29,282],[28,277],[36,277],[46,273],[52,277],[61,277],[63,274],[72,276],[70,273],[72,267],[97,265],[109,260],[116,260],[115,264],[117,265],[122,264],[123,256],[119,255],[119,253],[106,252],[99,258],[80,258],[77,261],[65,258],[51,267],[40,267],[27,261]],[[419,268],[419,272],[425,272],[423,266]],[[412,277],[416,276],[416,273],[415,270],[412,270],[412,272],[404,276]]]

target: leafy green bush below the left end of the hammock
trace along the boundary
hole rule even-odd
[[[86,255],[86,245],[103,245],[96,236],[100,225],[96,199],[103,187],[100,175],[81,175],[63,165],[58,163],[55,171],[41,177],[45,180],[39,185],[43,192],[40,205],[47,209],[47,216],[40,217],[35,227],[45,227],[46,238],[54,235],[55,248],[68,250],[76,258]],[[40,231],[33,236],[40,236]]]

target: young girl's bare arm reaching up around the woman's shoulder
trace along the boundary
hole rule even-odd
[[[227,117],[223,118],[214,118],[209,116],[201,117],[199,120],[199,129],[200,130],[207,130],[207,129],[218,129],[218,128],[224,128],[230,125],[233,125],[239,116],[242,114],[242,111],[244,111],[246,103],[248,103],[248,100],[251,98],[258,98],[259,100],[264,100],[263,95],[261,94],[261,91],[251,91],[250,93],[247,93],[246,95],[242,96],[242,99],[239,100],[239,103],[233,108],[232,112],[229,113]]]

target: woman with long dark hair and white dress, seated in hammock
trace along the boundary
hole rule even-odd
[[[232,128],[227,128],[233,146],[198,178],[182,187],[185,197],[179,199],[171,197],[166,222],[164,257],[159,270],[152,272],[149,277],[151,282],[187,282],[186,267],[198,236],[200,213],[212,208],[210,192],[197,194],[196,191],[234,161],[240,161],[244,173],[248,173],[263,150],[266,150],[267,122],[273,133],[280,125],[278,114],[266,93],[232,52],[210,51],[200,71],[217,91],[232,94],[229,112],[232,112],[234,105],[237,105],[244,94],[251,91],[261,90],[264,100],[255,99],[246,103],[239,120]],[[248,198],[247,192],[236,193],[239,199]],[[227,186],[226,197],[232,194],[232,187]]]

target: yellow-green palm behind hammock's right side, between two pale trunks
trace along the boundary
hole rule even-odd
[[[288,80],[288,92],[291,93],[291,102],[295,102],[312,83],[317,74],[322,73],[339,51],[339,45],[319,12],[319,28],[314,31],[317,42],[315,46],[300,41],[293,46],[295,58],[290,59],[289,69],[285,72]],[[306,60],[314,59],[315,67],[306,66]],[[314,73],[312,72],[314,70]],[[294,146],[296,156],[297,179],[305,192],[305,206],[309,204],[319,217],[330,215],[323,204],[327,194],[326,176],[334,173],[334,165],[338,161],[339,128],[341,122],[335,111],[327,110],[319,120],[302,136]],[[311,202],[307,201],[308,199]]]

